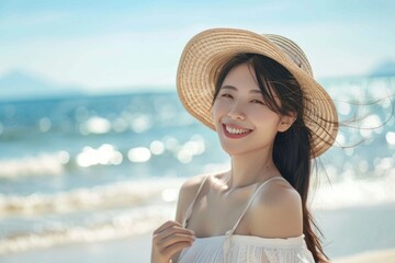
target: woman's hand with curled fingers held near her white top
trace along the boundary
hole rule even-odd
[[[169,263],[171,258],[195,240],[194,232],[177,221],[167,221],[154,231],[151,263]]]

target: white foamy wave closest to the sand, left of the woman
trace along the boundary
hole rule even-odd
[[[58,226],[38,232],[9,235],[0,240],[0,254],[30,249],[49,248],[66,243],[105,241],[128,238],[151,231],[165,220],[173,217],[174,207],[145,207],[143,210],[123,214],[108,221],[80,226]]]

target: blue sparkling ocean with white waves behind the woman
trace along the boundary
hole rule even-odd
[[[313,208],[395,204],[395,77],[321,84],[345,126]],[[176,92],[0,101],[0,256],[147,233],[185,179],[228,167]]]

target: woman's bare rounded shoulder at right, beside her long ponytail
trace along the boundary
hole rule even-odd
[[[300,194],[287,182],[273,180],[255,198],[248,214],[250,232],[263,238],[291,238],[303,233]]]

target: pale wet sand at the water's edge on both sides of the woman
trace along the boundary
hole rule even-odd
[[[395,262],[395,205],[385,204],[318,210],[325,251],[336,263]],[[140,236],[93,243],[59,245],[1,255],[2,263],[144,263],[149,262],[150,237]]]

